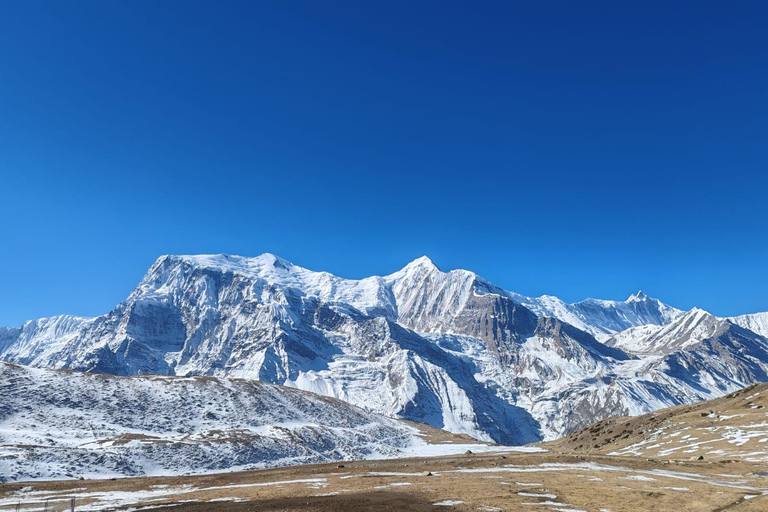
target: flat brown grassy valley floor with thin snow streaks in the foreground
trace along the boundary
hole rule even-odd
[[[0,511],[768,510],[768,466],[489,452],[188,477],[0,485]],[[17,509],[17,506],[19,508]]]

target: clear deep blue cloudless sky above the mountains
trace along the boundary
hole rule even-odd
[[[768,3],[5,1],[0,325],[166,253],[768,310]]]

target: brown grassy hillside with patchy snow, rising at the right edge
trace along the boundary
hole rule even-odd
[[[550,448],[659,459],[768,462],[768,384],[634,418],[610,418]]]

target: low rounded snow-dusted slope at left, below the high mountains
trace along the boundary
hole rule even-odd
[[[0,362],[0,394],[0,481],[205,473],[467,449],[429,445],[398,420],[256,381],[114,377]]]

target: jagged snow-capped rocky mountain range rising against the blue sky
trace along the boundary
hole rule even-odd
[[[7,331],[0,358],[115,375],[256,379],[520,444],[765,379],[768,353],[757,335],[749,347],[756,362],[732,375],[727,351],[741,346],[721,344],[708,373],[699,355],[683,357],[688,347],[628,354],[595,338],[627,328],[641,335],[682,315],[641,293],[623,302],[531,299],[466,270],[442,272],[426,257],[349,280],[270,254],[164,256],[109,314],[27,322]]]

